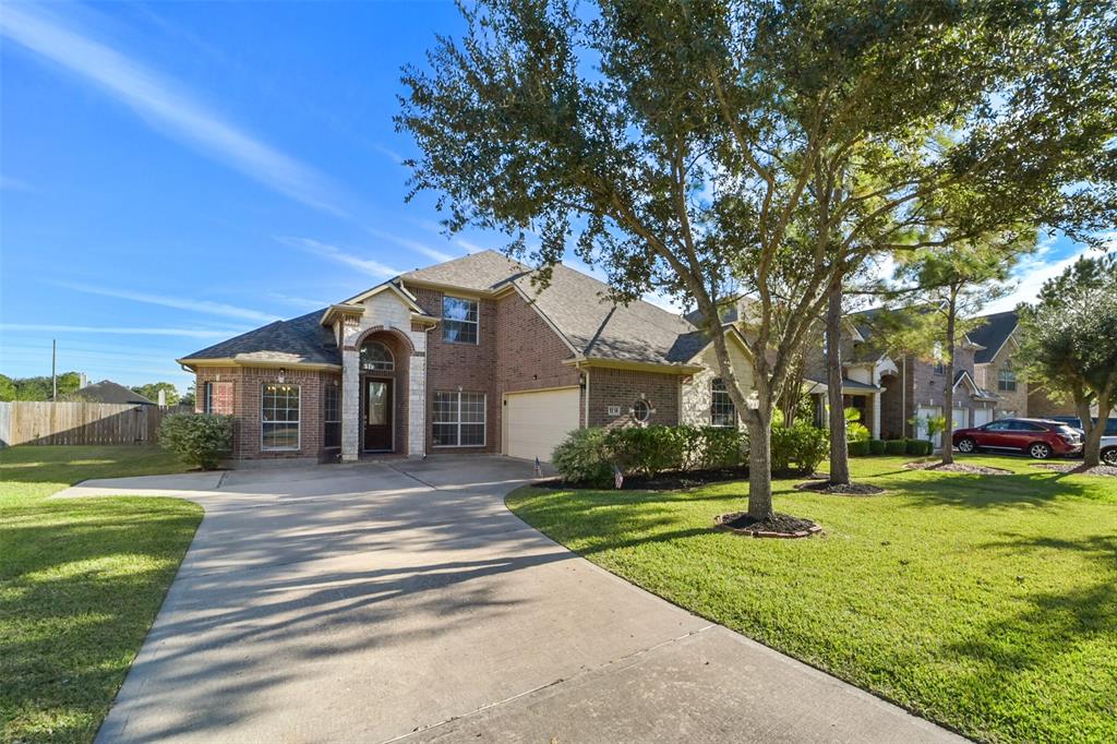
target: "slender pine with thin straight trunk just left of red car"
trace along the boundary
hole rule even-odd
[[[915,298],[925,311],[909,328],[914,335],[923,336],[925,351],[941,350],[939,361],[945,366],[943,462],[951,464],[954,461],[954,356],[958,337],[976,327],[977,313],[987,302],[1008,292],[1009,271],[1021,254],[1035,247],[1035,231],[1018,228],[957,241],[949,239],[949,228],[942,233],[947,247],[903,256],[896,276],[901,285],[897,293],[904,302]],[[918,338],[910,344],[920,345]]]

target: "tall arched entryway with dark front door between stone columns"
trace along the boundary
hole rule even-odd
[[[360,451],[407,454],[411,343],[394,330],[374,330],[361,338],[357,351]]]

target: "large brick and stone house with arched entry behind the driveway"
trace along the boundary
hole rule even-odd
[[[199,411],[235,417],[233,459],[439,451],[548,460],[585,426],[737,426],[709,338],[566,266],[483,251],[402,274],[179,360]],[[748,385],[733,324],[735,372]]]

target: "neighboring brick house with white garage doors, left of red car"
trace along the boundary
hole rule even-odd
[[[954,351],[954,380],[946,380],[945,364],[917,356],[892,357],[875,343],[873,311],[855,313],[842,332],[842,395],[846,408],[856,408],[870,435],[879,439],[927,437],[923,422],[946,416],[945,391],[954,389],[954,428],[992,421],[999,398],[975,376],[975,355],[984,351],[972,335],[964,335]],[[818,421],[827,402],[825,351],[808,353],[806,378],[814,383]],[[917,420],[913,426],[910,421]],[[935,440],[941,445],[941,436]]]

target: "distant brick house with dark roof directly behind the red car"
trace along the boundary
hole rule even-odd
[[[1028,382],[1013,364],[1020,349],[1016,312],[994,313],[977,319],[982,323],[968,333],[974,343],[983,346],[974,354],[974,381],[996,393],[995,418],[1033,416]]]

